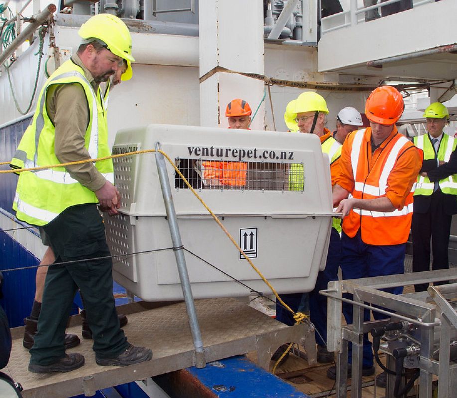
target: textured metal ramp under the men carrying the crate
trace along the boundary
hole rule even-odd
[[[129,342],[151,348],[151,361],[127,367],[98,366],[92,340],[81,338],[81,319],[77,315],[71,317],[67,332],[79,335],[81,344],[68,352],[84,355],[82,368],[44,375],[28,372],[30,355],[22,346],[24,327],[19,327],[11,330],[11,359],[3,371],[22,384],[24,398],[65,398],[90,396],[99,389],[194,366],[195,348],[184,302],[155,309],[145,309],[147,305],[151,303],[117,308],[119,313],[129,315],[124,327]],[[268,369],[273,352],[287,342],[302,344],[309,357],[315,358],[314,329],[307,323],[288,327],[234,298],[197,300],[195,306],[207,362],[256,350],[258,364]]]

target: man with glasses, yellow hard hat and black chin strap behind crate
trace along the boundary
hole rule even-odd
[[[325,99],[320,94],[312,91],[306,91],[300,94],[295,100],[289,102],[286,107],[286,112],[284,113],[284,121],[291,131],[298,131],[305,134],[315,134],[320,138],[322,152],[328,155],[333,182],[334,176],[339,173],[338,162],[341,156],[341,144],[333,138],[330,130],[325,128],[327,114],[328,108]],[[303,165],[291,165],[289,173],[289,189],[291,191],[303,190]],[[321,363],[333,362],[334,355],[333,353],[328,352],[326,347],[327,300],[324,296],[319,295],[318,291],[326,289],[329,281],[338,279],[338,267],[341,256],[341,239],[339,236],[340,230],[341,223],[339,220],[335,220],[331,229],[330,246],[328,249],[325,270],[319,272],[316,286],[309,294],[311,321],[314,323],[316,328],[317,361]],[[282,295],[281,298],[294,311],[299,310],[302,294],[291,293]],[[294,320],[289,315],[289,312],[284,311],[281,306],[277,305],[276,311],[277,320],[287,325],[294,324]],[[279,352],[277,354],[279,354]]]

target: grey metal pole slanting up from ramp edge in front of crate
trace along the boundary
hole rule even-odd
[[[193,344],[195,347],[195,366],[204,368],[206,366],[205,354],[203,352],[203,341],[201,338],[200,326],[197,319],[197,311],[193,301],[192,288],[190,286],[189,274],[187,272],[186,259],[184,257],[184,246],[182,245],[181,234],[179,232],[178,220],[171,195],[171,186],[166,174],[165,158],[159,152],[161,145],[155,143],[155,160],[157,162],[158,177],[162,187],[163,201],[165,203],[168,225],[170,227],[171,240],[173,242],[174,255],[178,266],[179,279],[181,280],[182,293],[186,303],[187,315],[189,317],[190,331],[192,332]]]

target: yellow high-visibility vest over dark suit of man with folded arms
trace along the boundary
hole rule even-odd
[[[457,140],[447,134],[443,134],[440,141],[438,153],[435,154],[435,148],[430,140],[429,134],[424,134],[413,138],[414,145],[424,152],[424,159],[438,159],[449,162],[451,153],[456,149]],[[438,182],[441,191],[445,194],[457,195],[457,174],[444,178]],[[417,177],[416,191],[414,195],[432,195],[434,183],[430,182],[428,177],[419,175]]]

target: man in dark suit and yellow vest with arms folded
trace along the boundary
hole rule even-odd
[[[424,152],[421,174],[414,191],[413,272],[449,268],[448,244],[453,214],[457,214],[457,140],[443,132],[449,112],[440,102],[425,109],[427,134],[414,137],[416,147]],[[426,291],[428,283],[416,284],[415,290]]]

